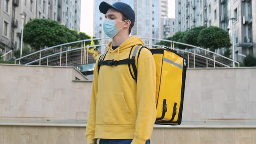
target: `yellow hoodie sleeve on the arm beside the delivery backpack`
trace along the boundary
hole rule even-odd
[[[138,59],[137,119],[131,144],[145,144],[151,137],[156,119],[156,65],[151,52],[145,49],[144,53],[146,58],[140,56]]]

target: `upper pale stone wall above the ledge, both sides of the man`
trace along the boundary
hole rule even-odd
[[[0,65],[0,118],[86,120],[91,82],[72,67]],[[188,69],[184,121],[256,119],[256,68]]]

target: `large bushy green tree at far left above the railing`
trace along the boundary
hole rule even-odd
[[[23,40],[33,49],[39,50],[44,46],[56,46],[75,39],[72,31],[57,21],[34,19],[24,26]]]

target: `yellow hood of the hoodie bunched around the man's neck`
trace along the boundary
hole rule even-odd
[[[128,39],[126,39],[125,42],[122,43],[121,46],[118,46],[118,48],[115,50],[112,49],[112,42],[109,42],[107,49],[108,49],[108,52],[115,52],[115,51],[119,52],[123,49],[128,49],[135,45],[143,45],[144,46],[145,43],[138,36],[131,36]]]

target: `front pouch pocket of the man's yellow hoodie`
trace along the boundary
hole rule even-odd
[[[123,93],[102,93],[97,96],[96,124],[130,125],[132,123]]]

